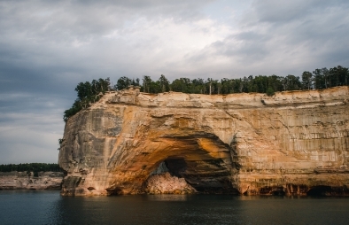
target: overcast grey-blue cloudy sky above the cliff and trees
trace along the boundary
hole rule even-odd
[[[0,164],[58,162],[81,81],[349,67],[347,0],[0,0]]]

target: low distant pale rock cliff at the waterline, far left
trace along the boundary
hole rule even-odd
[[[60,190],[63,177],[61,172],[0,172],[0,190]]]

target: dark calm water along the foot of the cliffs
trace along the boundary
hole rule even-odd
[[[0,191],[0,224],[349,224],[349,198]]]

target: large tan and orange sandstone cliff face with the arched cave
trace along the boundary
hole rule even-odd
[[[348,87],[107,93],[66,122],[62,194],[143,193],[165,167],[199,192],[348,195],[348,101]]]

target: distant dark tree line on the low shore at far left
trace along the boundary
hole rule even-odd
[[[63,170],[56,163],[19,163],[19,164],[2,164],[0,165],[0,172],[34,172],[37,176],[38,172],[63,172]]]

